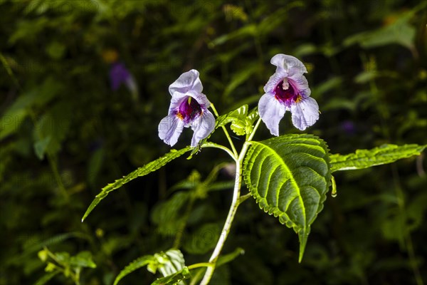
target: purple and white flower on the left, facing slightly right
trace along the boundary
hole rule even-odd
[[[191,146],[195,147],[215,128],[214,115],[208,110],[211,103],[204,93],[199,71],[182,73],[169,86],[172,95],[168,115],[159,123],[159,138],[173,146],[184,128],[194,130]]]

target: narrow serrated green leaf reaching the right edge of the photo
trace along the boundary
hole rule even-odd
[[[356,150],[348,155],[330,156],[331,171],[356,170],[395,162],[402,158],[420,155],[427,145],[381,145],[371,150]]]

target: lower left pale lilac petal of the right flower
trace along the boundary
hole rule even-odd
[[[285,115],[286,107],[271,93],[265,93],[258,103],[258,113],[272,135],[279,135],[279,122]]]

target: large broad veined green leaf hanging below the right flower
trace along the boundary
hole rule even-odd
[[[260,208],[298,234],[301,261],[310,224],[322,210],[331,181],[326,143],[314,135],[251,142],[243,176]]]

